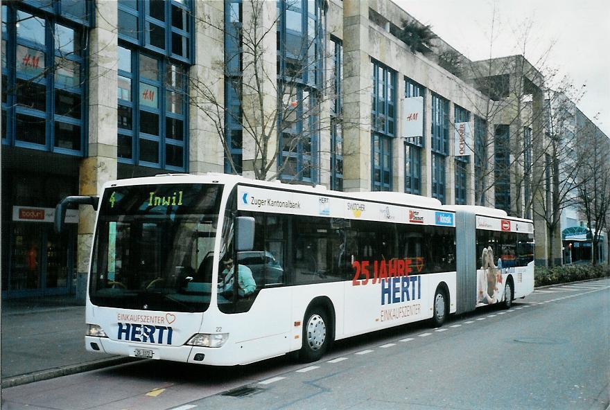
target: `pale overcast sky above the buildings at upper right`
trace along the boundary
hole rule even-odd
[[[609,0],[393,1],[471,60],[523,54],[525,46],[537,68],[568,75],[577,89],[586,84],[577,105],[610,136]]]

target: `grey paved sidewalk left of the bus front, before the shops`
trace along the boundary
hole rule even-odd
[[[85,350],[85,306],[74,296],[2,301],[2,388],[122,363]]]

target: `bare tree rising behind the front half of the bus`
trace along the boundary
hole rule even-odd
[[[274,13],[275,3],[269,4],[243,2],[243,19],[233,16],[229,26],[215,26],[225,36],[225,45],[234,45],[233,52],[225,48],[225,60],[218,62],[224,74],[218,81],[225,81],[225,92],[232,93],[239,107],[217,95],[217,84],[193,79],[191,103],[214,125],[232,172],[240,173],[241,164],[231,154],[235,141],[227,121],[241,130],[242,140],[237,142],[249,156],[244,171],[254,178],[311,177],[321,167],[317,140],[331,128],[329,112],[322,112],[322,107],[340,93],[332,78],[333,66],[324,64],[332,56],[323,54],[321,21],[307,26],[302,35],[286,34],[286,28],[280,35],[281,16]],[[213,25],[209,19],[203,24]],[[333,121],[358,123],[342,112]]]

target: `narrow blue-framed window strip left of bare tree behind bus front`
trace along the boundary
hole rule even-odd
[[[241,114],[243,3],[225,0],[225,172],[241,174],[243,126]]]

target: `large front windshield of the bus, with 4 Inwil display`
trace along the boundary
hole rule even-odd
[[[223,186],[165,184],[105,190],[89,298],[112,308],[203,312]]]

